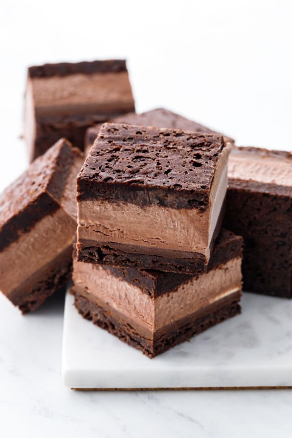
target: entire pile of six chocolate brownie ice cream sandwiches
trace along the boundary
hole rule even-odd
[[[23,313],[72,276],[79,313],[152,358],[240,312],[242,256],[245,290],[292,297],[290,152],[136,114],[123,60],[31,67],[25,96],[31,164],[0,196]]]

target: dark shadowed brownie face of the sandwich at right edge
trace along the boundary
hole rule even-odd
[[[244,239],[243,289],[292,298],[292,198],[244,185],[228,188],[224,220]]]

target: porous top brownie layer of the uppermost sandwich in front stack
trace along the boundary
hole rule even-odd
[[[78,175],[77,199],[118,200],[127,190],[131,202],[206,209],[224,146],[220,134],[104,124]],[[155,200],[131,198],[135,190],[154,190]]]

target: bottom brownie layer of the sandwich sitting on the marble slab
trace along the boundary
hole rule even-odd
[[[113,316],[111,311],[98,306],[95,302],[84,297],[76,290],[73,290],[73,293],[75,295],[75,307],[84,318],[117,336],[129,346],[141,350],[150,358],[240,313],[240,291],[238,291],[235,292],[232,297],[228,299],[223,298],[220,303],[217,302],[216,306],[213,306],[213,311],[210,307],[210,312],[207,315],[198,315],[199,317],[192,321],[187,319],[185,324],[183,324],[182,321],[180,327],[175,324],[172,328],[168,326],[165,327],[165,329],[160,329],[157,334],[154,334],[152,339],[149,339],[148,337],[142,338],[129,323],[118,320]]]

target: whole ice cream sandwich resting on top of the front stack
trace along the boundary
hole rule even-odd
[[[230,148],[219,134],[105,124],[77,178],[78,260],[203,271]]]

